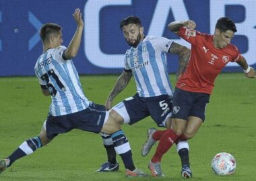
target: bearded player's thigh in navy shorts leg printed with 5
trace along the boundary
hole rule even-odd
[[[169,95],[161,95],[146,101],[150,116],[158,127],[166,127],[166,121],[170,118],[172,112],[171,99]]]

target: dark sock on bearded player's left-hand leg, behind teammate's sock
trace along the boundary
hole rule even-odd
[[[106,154],[108,156],[108,162],[110,164],[117,164],[117,158],[116,158],[117,153],[115,151],[112,138],[110,137],[110,135],[107,135],[104,133],[101,133],[101,137],[102,137],[103,145],[106,149]]]

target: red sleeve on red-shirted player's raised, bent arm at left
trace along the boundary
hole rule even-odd
[[[188,29],[187,27],[181,27],[178,32],[178,36],[180,36],[190,44],[196,44],[197,39],[199,38],[200,35],[200,32]]]

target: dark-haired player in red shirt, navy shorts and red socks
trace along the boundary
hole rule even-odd
[[[236,32],[235,23],[228,17],[218,19],[214,35],[195,31],[195,22],[174,21],[168,29],[191,44],[191,57],[185,73],[179,78],[173,97],[172,126],[155,131],[148,139],[159,140],[152,163],[160,164],[162,156],[179,139],[191,139],[205,120],[214,80],[228,62],[236,62],[248,78],[255,70],[248,66],[238,48],[230,41]],[[150,141],[150,140],[148,140]]]

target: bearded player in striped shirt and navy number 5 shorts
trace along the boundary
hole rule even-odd
[[[170,119],[172,110],[172,85],[166,70],[166,53],[179,55],[177,74],[181,76],[189,60],[190,50],[164,37],[145,36],[139,17],[129,16],[123,19],[120,28],[131,48],[125,54],[125,68],[106,100],[106,109],[112,107],[113,99],[123,91],[133,76],[137,93],[113,107],[110,115],[120,124],[129,123],[130,125],[151,116],[159,127],[170,127],[170,122],[167,125],[166,121]],[[148,135],[151,136],[154,131],[156,131],[154,128],[148,129]],[[102,139],[108,162],[102,164],[98,172],[118,170],[119,164],[110,137],[102,135]],[[178,143],[177,152],[182,162],[181,174],[186,177],[191,176],[191,170],[188,168],[188,151],[187,141]],[[143,149],[141,155],[147,154],[148,151]],[[164,176],[164,174],[160,168],[155,168],[153,176]]]

